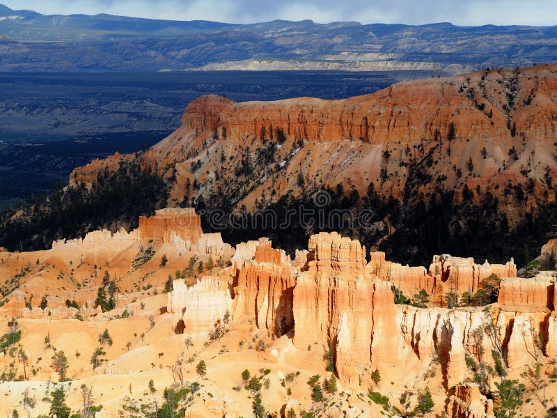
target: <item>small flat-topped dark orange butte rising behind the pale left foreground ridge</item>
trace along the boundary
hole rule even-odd
[[[193,208],[166,208],[155,212],[151,217],[139,217],[141,239],[171,241],[171,235],[192,243],[198,242],[203,234],[201,218]]]

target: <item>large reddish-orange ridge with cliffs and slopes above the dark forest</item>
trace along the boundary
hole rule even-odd
[[[301,194],[296,184],[299,176],[323,187],[350,184],[361,196],[372,183],[382,196],[402,199],[401,190],[410,174],[409,150],[418,145],[424,155],[432,153],[434,160],[444,161],[431,167],[428,173],[433,180],[420,192],[434,192],[434,179],[446,178],[444,187],[455,190],[455,200],[462,199],[464,187],[476,190],[479,186],[482,193],[496,194],[508,182],[526,185],[521,167],[526,167],[534,152],[539,164],[529,175],[535,183],[532,196],[524,202],[514,199],[515,206],[502,200],[499,204],[512,224],[522,212],[535,207],[535,199],[554,198],[553,189],[543,178],[545,167],[549,167],[551,178],[557,178],[557,162],[552,156],[557,137],[556,79],[555,65],[538,65],[402,82],[345,100],[237,103],[208,95],[190,102],[182,126],[139,158],[145,167],[158,167],[168,176],[175,174],[170,201],[182,201],[186,194],[190,199],[205,199],[210,189],[220,188],[229,195],[242,196],[237,208],[245,205],[254,211],[260,207],[256,202],[277,201],[289,191]],[[501,85],[513,91],[512,105],[508,102],[511,96],[501,95]],[[456,134],[448,155],[446,138],[451,125]],[[517,145],[516,138],[521,144]],[[279,146],[274,149],[274,161],[254,159],[254,164],[262,171],[277,169],[261,178],[253,176],[253,187],[246,193],[233,174],[242,160],[237,149],[242,147],[253,157],[260,155],[269,140]],[[512,149],[516,158],[509,161]],[[391,155],[388,160],[382,157],[386,150]],[[97,173],[105,168],[116,170],[121,160],[134,158],[115,155],[94,161],[76,169],[70,184],[91,185]],[[470,159],[473,170],[467,167]],[[194,173],[183,169],[193,162],[200,165]],[[217,171],[222,173],[218,179]],[[464,173],[462,179],[460,175],[457,178],[459,172]],[[387,174],[384,181],[379,180],[382,173]],[[191,190],[195,181],[202,185],[210,182],[212,187]],[[480,199],[477,193],[472,195]]]

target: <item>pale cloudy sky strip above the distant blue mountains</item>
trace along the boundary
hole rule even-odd
[[[45,15],[110,13],[230,23],[315,22],[426,24],[557,24],[557,0],[0,0]]]

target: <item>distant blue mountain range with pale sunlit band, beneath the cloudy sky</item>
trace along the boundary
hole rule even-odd
[[[557,26],[257,24],[41,15],[0,5],[1,71],[443,70],[557,62]]]

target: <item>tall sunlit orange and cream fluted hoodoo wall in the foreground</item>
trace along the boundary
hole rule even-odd
[[[233,321],[253,320],[259,330],[274,336],[294,330],[292,342],[297,348],[306,350],[317,343],[330,350],[340,378],[352,385],[370,367],[388,371],[402,362],[419,364],[418,370],[423,368],[425,373],[435,361],[448,389],[466,380],[466,356],[493,364],[485,353],[496,349],[508,367],[516,368],[535,361],[532,353],[557,352],[550,276],[503,278],[499,304],[487,311],[419,309],[394,304],[393,281],[386,279],[384,267],[400,273],[405,288],[424,286],[435,292],[444,288],[443,278],[451,274],[461,284],[477,286],[494,271],[512,272],[514,263],[494,267],[476,265],[471,258],[437,256],[430,272],[435,265],[440,272],[430,274],[423,268],[411,270],[416,268],[386,262],[383,254],[372,253],[370,258],[366,264],[359,242],[337,233],[312,235],[307,253],[297,254],[295,262],[273,249],[269,240],[245,243],[237,246],[235,264],[221,270],[219,277],[206,277],[190,288],[175,281],[168,294],[168,311],[183,311],[185,332],[197,335],[203,330],[206,335],[226,311]],[[478,334],[490,323],[499,330],[496,334]],[[535,337],[540,334],[543,347]],[[462,396],[464,392],[457,392],[451,398],[451,411],[462,415],[464,410],[477,409]]]

